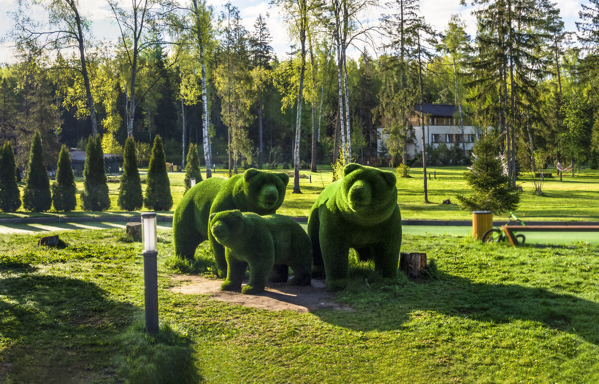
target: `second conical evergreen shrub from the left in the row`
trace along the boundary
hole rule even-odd
[[[32,212],[48,211],[52,206],[52,196],[50,196],[50,179],[46,171],[39,130],[35,131],[34,137],[31,139],[26,177],[23,208]]]

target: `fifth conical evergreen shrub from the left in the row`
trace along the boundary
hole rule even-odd
[[[125,141],[123,175],[120,176],[117,202],[119,207],[125,211],[137,211],[143,204],[140,172],[137,170],[137,157],[135,156],[135,141],[132,136]]]

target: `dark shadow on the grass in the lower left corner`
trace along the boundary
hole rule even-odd
[[[3,263],[2,272],[31,272]],[[25,273],[0,280],[0,382],[191,383],[201,377],[187,336],[130,326],[141,315],[92,282]],[[123,331],[125,330],[125,331]],[[4,362],[10,362],[5,364]]]

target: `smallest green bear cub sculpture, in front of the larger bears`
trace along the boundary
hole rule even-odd
[[[223,291],[241,288],[247,266],[250,267],[250,281],[241,289],[243,293],[264,291],[275,264],[285,266],[285,269],[289,266],[294,271],[289,284],[310,284],[310,237],[291,218],[223,211],[210,215],[210,230],[217,242],[225,246],[227,273],[220,286]]]

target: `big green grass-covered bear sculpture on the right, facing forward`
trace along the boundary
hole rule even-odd
[[[360,260],[373,260],[385,278],[397,279],[401,214],[392,172],[347,164],[343,178],[317,197],[308,217],[314,273],[324,272],[326,287],[343,288],[349,248]]]

